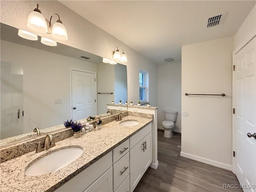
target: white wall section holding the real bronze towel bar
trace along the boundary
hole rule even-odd
[[[232,169],[234,37],[182,46],[181,155]],[[185,96],[226,94],[222,96]]]

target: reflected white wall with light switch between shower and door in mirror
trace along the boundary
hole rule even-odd
[[[23,67],[24,133],[70,119],[70,67],[96,71],[96,64],[4,40],[1,61]]]

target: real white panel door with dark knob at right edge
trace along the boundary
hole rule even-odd
[[[233,171],[244,191],[256,192],[256,38],[233,55],[233,115],[234,151]],[[250,133],[250,134],[248,134]]]

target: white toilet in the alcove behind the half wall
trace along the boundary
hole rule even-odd
[[[177,111],[164,110],[165,121],[162,122],[164,128],[164,137],[171,138],[173,133],[172,129],[174,128],[174,121],[177,118]]]

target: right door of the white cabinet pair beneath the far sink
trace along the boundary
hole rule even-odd
[[[152,162],[152,133],[150,132],[143,139],[144,151],[142,150],[142,174],[145,173],[147,168]],[[143,146],[142,146],[143,147]]]

